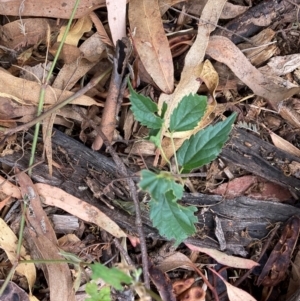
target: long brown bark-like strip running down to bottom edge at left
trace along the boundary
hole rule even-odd
[[[59,254],[58,243],[52,225],[42,208],[42,203],[36,186],[25,173],[17,173],[22,197],[28,202],[26,211],[27,225],[24,237],[29,244],[31,254],[38,259],[62,260]],[[74,301],[75,293],[72,288],[72,278],[67,263],[41,264],[50,290],[50,300]]]

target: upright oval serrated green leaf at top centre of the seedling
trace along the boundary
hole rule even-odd
[[[207,97],[189,94],[182,98],[172,112],[170,132],[182,132],[194,129],[204,116],[207,107]]]

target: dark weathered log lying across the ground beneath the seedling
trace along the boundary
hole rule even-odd
[[[247,141],[257,145],[251,148],[246,147],[244,144]],[[92,151],[82,143],[59,131],[56,131],[54,134],[53,147],[57,154],[59,147],[63,148],[68,154],[70,162],[62,166],[60,170],[54,168],[52,178],[48,175],[46,164],[40,164],[33,169],[32,178],[37,182],[60,187],[66,192],[91,203],[113,218],[124,230],[136,234],[136,226],[132,215],[119,209],[115,204],[114,209],[108,208],[102,202],[96,200],[90,191],[81,189],[86,187],[84,179],[89,175],[89,168],[101,173],[102,176],[107,177],[107,180],[116,179],[118,177],[118,167],[112,160],[98,152]],[[266,150],[265,155],[272,154],[273,161],[269,161],[267,157],[263,156],[264,153],[262,155],[260,153],[261,150]],[[249,161],[243,163],[243,159],[246,160],[245,155],[247,156],[248,154],[254,160],[248,159]],[[9,166],[17,166],[24,170],[28,166],[30,154],[25,151],[24,156],[22,156],[22,152],[14,153],[13,155],[1,157],[0,162]],[[221,157],[226,160],[233,160],[233,162],[239,160],[238,164],[246,170],[253,169],[255,174],[282,186],[300,187],[300,181],[295,177],[285,176],[280,165],[283,164],[280,163],[281,161],[287,164],[286,162],[299,162],[299,159],[279,151],[273,145],[245,130],[234,130],[231,139],[221,153]],[[274,166],[274,164],[277,164],[277,166]],[[130,200],[129,195],[124,195],[123,200]],[[197,213],[199,223],[197,227],[201,231],[193,238],[187,239],[187,242],[203,247],[219,248],[214,235],[213,214],[216,214],[220,219],[225,235],[227,251],[240,255],[246,255],[245,246],[253,239],[261,239],[268,233],[270,224],[284,222],[293,215],[300,215],[300,209],[294,206],[270,201],[258,201],[247,197],[224,199],[222,196],[216,195],[185,194],[182,203],[195,205],[199,208]],[[205,207],[207,209],[211,208],[213,211],[205,210],[202,214],[201,209]],[[142,219],[143,230],[147,237],[163,239],[158,234],[158,231],[152,227],[148,212],[143,212]],[[248,234],[248,237],[245,234]]]

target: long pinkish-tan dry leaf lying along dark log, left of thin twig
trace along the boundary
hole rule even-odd
[[[82,220],[94,223],[115,237],[126,237],[125,232],[108,216],[95,206],[84,202],[60,188],[47,184],[35,184],[45,204],[56,206]]]

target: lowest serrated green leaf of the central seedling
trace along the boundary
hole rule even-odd
[[[176,202],[173,191],[169,190],[161,195],[159,201],[150,201],[150,219],[162,236],[175,239],[179,245],[187,237],[196,232],[194,223],[197,217],[194,212],[196,207],[183,207]]]

